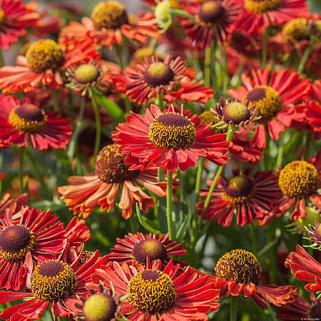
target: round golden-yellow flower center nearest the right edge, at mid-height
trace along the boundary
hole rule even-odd
[[[289,198],[310,196],[319,188],[317,168],[306,161],[293,161],[281,170],[279,187]]]

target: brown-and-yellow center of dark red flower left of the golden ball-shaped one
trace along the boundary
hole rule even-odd
[[[248,200],[253,190],[253,180],[245,176],[236,176],[223,188],[223,198],[229,203],[240,204]]]

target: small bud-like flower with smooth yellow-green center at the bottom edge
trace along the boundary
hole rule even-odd
[[[100,284],[97,292],[89,290],[89,293],[90,297],[81,297],[83,304],[75,304],[80,310],[74,316],[76,320],[115,321],[116,317],[121,317],[121,299],[111,290]]]

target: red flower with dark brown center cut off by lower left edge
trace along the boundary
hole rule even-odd
[[[50,210],[23,208],[19,220],[7,211],[0,220],[0,288],[27,287],[35,263],[56,258],[64,240],[63,223]]]

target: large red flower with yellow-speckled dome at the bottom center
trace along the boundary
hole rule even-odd
[[[180,265],[172,260],[164,268],[160,260],[152,264],[148,260],[146,268],[111,262],[96,270],[87,288],[97,289],[103,282],[111,289],[112,283],[116,295],[128,295],[121,306],[128,320],[208,320],[206,313],[219,306],[214,282],[190,267],[179,275],[178,271]]]

